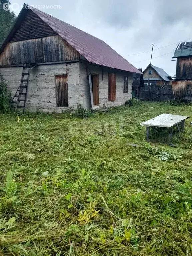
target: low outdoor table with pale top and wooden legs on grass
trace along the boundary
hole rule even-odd
[[[185,119],[189,118],[189,116],[179,116],[179,115],[171,115],[171,114],[161,114],[156,116],[146,122],[142,122],[142,126],[146,126],[146,139],[149,140],[150,136],[150,127],[158,133],[158,131],[154,127],[164,127],[169,129],[169,138],[171,139],[173,136],[173,127],[177,126],[179,132],[184,131]],[[181,124],[181,129],[179,128],[179,124]]]

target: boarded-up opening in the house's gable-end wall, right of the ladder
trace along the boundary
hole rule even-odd
[[[56,106],[68,107],[67,75],[55,75]]]

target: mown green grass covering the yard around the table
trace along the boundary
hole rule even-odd
[[[0,255],[192,255],[192,126],[145,142],[162,113],[192,106],[1,114]]]

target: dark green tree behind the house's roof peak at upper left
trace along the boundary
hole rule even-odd
[[[9,6],[11,5],[10,0],[0,0],[0,44],[3,42],[5,36],[16,19],[14,12],[10,10],[5,11],[3,9],[3,4],[5,3],[7,3]]]

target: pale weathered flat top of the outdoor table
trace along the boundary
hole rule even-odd
[[[142,122],[141,125],[171,128],[187,118],[189,118],[189,116],[161,114],[146,122]]]

